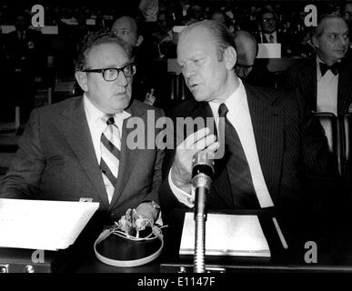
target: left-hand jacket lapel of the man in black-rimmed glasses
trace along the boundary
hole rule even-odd
[[[67,107],[62,115],[64,118],[61,121],[61,128],[65,138],[81,163],[92,188],[101,197],[104,208],[106,208],[108,206],[106,186],[96,161],[96,151],[86,121],[83,98],[75,99],[74,105]],[[82,196],[85,194],[83,193]]]

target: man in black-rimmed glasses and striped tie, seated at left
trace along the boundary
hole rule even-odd
[[[118,220],[128,208],[156,220],[164,153],[146,148],[145,136],[138,135],[140,146],[134,149],[128,136],[136,123],[144,126],[138,132],[146,132],[147,115],[158,118],[163,112],[131,102],[136,66],[129,46],[111,32],[86,35],[75,71],[84,95],[33,111],[0,196],[89,198],[100,203],[97,216],[103,224]]]

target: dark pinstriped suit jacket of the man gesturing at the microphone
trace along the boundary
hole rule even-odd
[[[270,88],[245,85],[256,149],[268,191],[277,210],[297,217],[302,211],[322,212],[337,181],[337,161],[330,156],[327,139],[317,120],[308,115],[295,95]],[[207,103],[186,100],[173,111],[176,116],[213,116]],[[159,200],[167,213],[183,206],[173,195],[167,175],[175,151],[168,151],[163,167]],[[209,210],[234,209],[228,176],[213,179],[207,196]],[[335,198],[334,198],[335,199]]]

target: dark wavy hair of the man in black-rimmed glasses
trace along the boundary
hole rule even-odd
[[[109,30],[100,30],[97,32],[85,35],[75,58],[75,71],[82,71],[86,66],[86,58],[90,50],[96,45],[116,44],[120,45],[126,52],[128,57],[131,57],[131,47],[126,42]]]

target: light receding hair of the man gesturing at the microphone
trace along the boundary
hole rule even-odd
[[[181,35],[196,26],[202,26],[206,28],[206,30],[214,36],[214,40],[216,41],[219,52],[219,61],[222,61],[224,52],[228,46],[235,47],[234,39],[230,31],[225,25],[217,22],[216,20],[203,20],[196,22],[193,25],[187,26],[186,29],[182,31]]]

